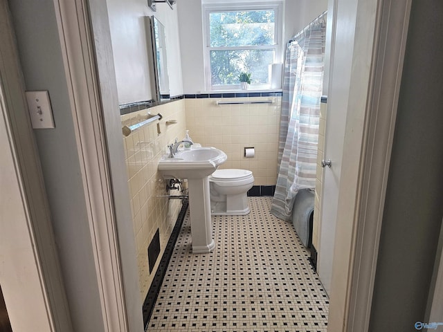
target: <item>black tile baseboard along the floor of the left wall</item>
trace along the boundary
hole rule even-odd
[[[185,220],[188,205],[188,200],[183,199],[183,205],[181,205],[179,216],[177,216],[177,221],[175,222],[174,229],[172,230],[168,244],[166,245],[165,252],[163,252],[163,255],[161,257],[159,268],[157,268],[156,270],[154,279],[152,279],[150,290],[147,292],[145,302],[143,302],[142,311],[143,325],[145,326],[145,331],[147,331],[147,326],[149,324],[152,311],[154,310],[154,304],[160,292],[161,283],[163,282],[163,278],[165,277],[166,271],[168,270],[168,264],[172,256],[172,252],[174,252],[174,246],[177,242],[177,238],[179,237],[181,225],[183,225],[183,221]]]

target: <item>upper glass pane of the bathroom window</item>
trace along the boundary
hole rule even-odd
[[[210,46],[273,45],[273,10],[210,12]]]

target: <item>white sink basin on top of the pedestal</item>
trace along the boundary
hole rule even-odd
[[[173,158],[163,156],[158,169],[164,178],[203,178],[213,174],[227,158],[215,147],[195,147],[179,151]]]

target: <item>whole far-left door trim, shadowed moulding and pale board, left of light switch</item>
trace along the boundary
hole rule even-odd
[[[12,331],[73,331],[8,2],[0,1],[0,284]]]

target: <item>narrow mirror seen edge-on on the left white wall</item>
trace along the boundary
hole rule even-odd
[[[170,99],[165,27],[154,16],[147,19],[150,21],[151,40],[148,44],[151,46],[154,73],[151,79],[152,96],[156,102],[162,102]]]

